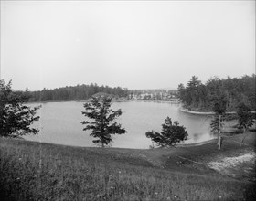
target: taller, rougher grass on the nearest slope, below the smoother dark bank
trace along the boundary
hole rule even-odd
[[[129,151],[131,152],[131,150]],[[0,140],[5,200],[243,200],[253,184],[170,172],[128,153]]]

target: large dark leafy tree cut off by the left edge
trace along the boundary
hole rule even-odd
[[[5,81],[0,80],[0,136],[37,134],[38,130],[30,128],[30,125],[39,120],[36,116],[39,107],[30,108],[24,105],[28,98],[26,93],[13,91],[11,81],[5,85]]]

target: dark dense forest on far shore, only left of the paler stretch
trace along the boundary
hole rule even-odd
[[[53,90],[38,90],[28,91],[26,90],[29,101],[59,101],[59,100],[87,100],[92,95],[103,92],[112,94],[116,98],[127,97],[128,89],[122,89],[121,87],[111,88],[109,86],[98,86],[97,84],[91,85],[77,85],[73,87],[62,87]]]

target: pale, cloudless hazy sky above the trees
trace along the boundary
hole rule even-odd
[[[15,90],[252,73],[255,1],[1,1],[1,79]]]

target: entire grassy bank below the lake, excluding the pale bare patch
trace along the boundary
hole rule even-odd
[[[229,176],[207,165],[254,152],[255,132],[242,147],[240,138],[225,138],[221,151],[215,140],[136,150],[0,138],[0,193],[4,200],[252,200],[255,166]]]

